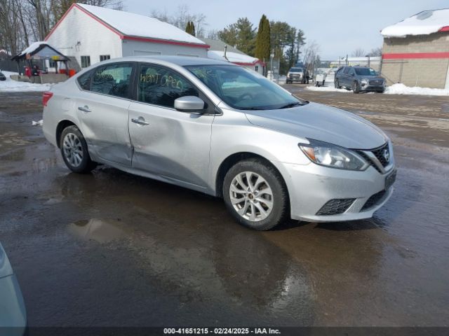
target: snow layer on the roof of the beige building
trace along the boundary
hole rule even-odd
[[[449,8],[424,10],[406,18],[382,31],[384,37],[405,37],[407,35],[429,35],[449,26]]]

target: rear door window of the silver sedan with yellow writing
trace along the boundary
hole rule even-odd
[[[93,71],[91,91],[128,98],[133,64],[116,63]]]

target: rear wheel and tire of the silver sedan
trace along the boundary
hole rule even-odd
[[[60,149],[65,165],[72,172],[84,174],[97,167],[97,163],[89,155],[86,139],[74,125],[65,127],[62,131]]]

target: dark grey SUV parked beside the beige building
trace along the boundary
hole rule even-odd
[[[354,93],[361,91],[385,91],[385,79],[366,66],[342,66],[335,73],[335,88],[344,87]]]

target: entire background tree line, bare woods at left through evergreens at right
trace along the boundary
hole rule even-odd
[[[43,41],[72,3],[123,9],[122,0],[0,0],[0,49],[16,55],[34,41]],[[199,37],[220,38],[247,55],[269,62],[279,59],[280,72],[286,73],[297,62],[314,62],[319,48],[304,48],[304,31],[282,21],[269,21],[262,15],[255,27],[248,18],[239,18],[221,30],[206,33],[206,15],[190,13],[187,5],[167,10],[152,10],[150,16]]]

